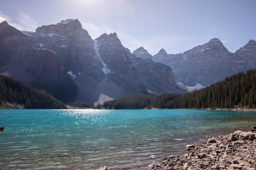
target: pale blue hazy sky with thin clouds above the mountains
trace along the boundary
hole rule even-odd
[[[78,19],[95,39],[117,33],[131,52],[182,53],[212,38],[234,52],[256,40],[256,0],[0,0],[0,22],[19,30]]]

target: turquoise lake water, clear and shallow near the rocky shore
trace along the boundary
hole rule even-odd
[[[206,136],[248,130],[256,112],[0,110],[0,169],[146,166]]]

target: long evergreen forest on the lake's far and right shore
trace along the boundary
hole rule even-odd
[[[139,94],[137,94],[139,95]],[[221,82],[186,94],[162,94],[145,101],[147,97],[122,96],[104,102],[108,109],[195,109],[195,108],[256,108],[256,70],[247,70],[227,77]]]

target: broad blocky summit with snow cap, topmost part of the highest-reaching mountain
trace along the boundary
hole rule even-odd
[[[68,19],[57,24],[38,27],[36,33],[58,34],[62,36],[72,36],[83,32],[83,28],[78,19]]]

